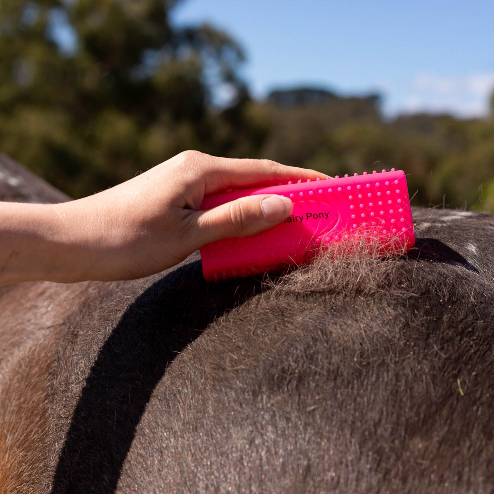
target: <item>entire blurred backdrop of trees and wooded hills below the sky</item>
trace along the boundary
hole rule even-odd
[[[394,166],[415,204],[494,212],[494,94],[484,120],[390,121],[378,95],[310,87],[255,102],[240,46],[174,26],[178,2],[0,0],[0,151],[74,197],[192,148],[331,175]],[[221,111],[219,86],[234,94]]]

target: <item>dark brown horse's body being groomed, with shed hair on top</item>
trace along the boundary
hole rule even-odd
[[[196,253],[1,288],[0,493],[493,492],[494,220],[413,216],[408,256],[269,284],[206,284]]]

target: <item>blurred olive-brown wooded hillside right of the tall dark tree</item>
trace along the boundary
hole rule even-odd
[[[414,204],[494,212],[494,119],[387,121],[372,96],[267,107],[273,122],[261,150],[267,158],[330,175],[396,167],[407,172]]]

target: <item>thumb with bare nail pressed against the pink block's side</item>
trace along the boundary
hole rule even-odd
[[[293,211],[288,197],[254,195],[197,211],[194,240],[198,247],[215,240],[247,237],[273,228]]]

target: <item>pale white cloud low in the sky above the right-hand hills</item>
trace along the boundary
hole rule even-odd
[[[413,78],[395,112],[451,113],[459,117],[484,117],[494,89],[493,74],[439,77],[420,74]],[[397,105],[398,106],[398,105]]]

